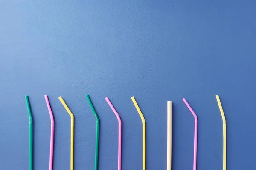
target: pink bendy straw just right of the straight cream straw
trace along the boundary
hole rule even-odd
[[[191,113],[193,114],[194,118],[195,118],[195,133],[194,133],[194,166],[193,166],[193,170],[196,170],[196,157],[197,157],[197,127],[198,127],[198,119],[197,116],[195,114],[195,112],[192,110],[192,108],[190,107],[189,103],[186,101],[185,98],[183,98],[183,102],[186,104],[186,106],[189,108],[189,111],[191,111]]]

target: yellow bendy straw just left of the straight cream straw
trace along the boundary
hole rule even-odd
[[[145,119],[144,119],[144,116],[143,114],[141,113],[140,111],[140,108],[136,102],[136,100],[134,99],[134,97],[131,97],[131,100],[132,102],[134,103],[135,105],[135,108],[137,109],[139,115],[140,115],[140,118],[141,118],[141,121],[142,121],[142,153],[143,153],[143,158],[142,158],[142,169],[143,170],[146,170],[146,122],[145,122]]]

